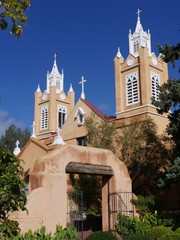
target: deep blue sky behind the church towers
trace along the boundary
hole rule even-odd
[[[150,29],[152,51],[158,55],[158,43],[179,42],[179,0],[31,0],[23,37],[0,31],[0,135],[12,123],[32,125],[34,92],[38,84],[45,90],[55,52],[65,92],[72,83],[77,101],[83,75],[86,98],[115,115],[113,59],[118,47],[128,56],[138,8],[144,30]],[[177,69],[170,67],[169,76],[179,78]]]

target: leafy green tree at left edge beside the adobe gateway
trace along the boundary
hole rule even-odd
[[[0,238],[9,239],[18,232],[18,223],[9,220],[11,212],[25,210],[26,193],[23,191],[23,169],[14,154],[0,147]]]

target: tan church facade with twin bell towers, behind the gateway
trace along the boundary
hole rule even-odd
[[[46,89],[42,92],[38,86],[35,92],[33,137],[49,145],[60,128],[66,143],[82,144],[87,135],[84,120],[92,112],[99,120],[115,122],[117,128],[150,117],[157,124],[158,133],[162,133],[167,117],[157,113],[151,98],[158,100],[158,86],[168,79],[167,64],[151,51],[151,34],[143,30],[139,10],[135,31],[129,31],[129,55],[124,59],[118,48],[114,67],[116,113],[110,117],[85,98],[83,77],[81,97],[76,104],[72,85],[67,94],[64,92],[64,73],[58,70],[55,54]]]

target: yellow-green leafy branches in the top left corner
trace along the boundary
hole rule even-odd
[[[22,26],[27,23],[25,10],[30,6],[30,0],[0,0],[0,29],[5,30],[11,24],[10,32],[22,36]]]

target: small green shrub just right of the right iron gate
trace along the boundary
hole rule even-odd
[[[131,200],[132,204],[138,209],[138,213],[141,217],[145,216],[145,214],[153,212],[155,207],[154,196],[142,196],[139,195],[137,199]]]

